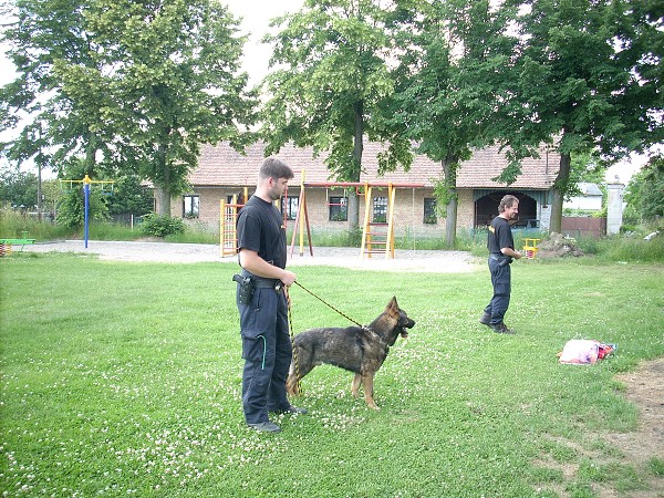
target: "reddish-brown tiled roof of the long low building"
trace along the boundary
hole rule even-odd
[[[364,145],[362,155],[364,173],[361,175],[361,181],[433,186],[434,180],[442,176],[439,163],[435,163],[426,156],[416,156],[407,173],[400,168],[400,170],[378,177],[376,156],[382,149],[383,146],[377,143]],[[247,147],[245,155],[239,154],[228,144],[203,145],[198,168],[189,175],[189,181],[195,186],[253,186],[263,160],[263,151],[264,144],[261,143]],[[314,158],[311,147],[297,148],[286,145],[276,156],[295,172],[293,184],[300,180],[302,169],[305,172],[305,183],[334,180],[330,178],[330,173],[323,163],[324,157]],[[559,162],[560,156],[552,152],[542,152],[538,159],[525,159],[521,164],[522,174],[510,188],[551,188],[558,173]],[[469,160],[461,164],[457,175],[457,187],[507,187],[505,184],[491,181],[491,178],[498,176],[506,165],[507,159],[498,152],[498,147],[476,151]]]

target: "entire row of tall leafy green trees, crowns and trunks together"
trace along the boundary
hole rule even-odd
[[[664,142],[655,0],[305,0],[266,37],[274,51],[260,108],[239,71],[238,21],[215,0],[3,8],[18,77],[0,89],[0,129],[19,134],[1,153],[51,168],[83,157],[91,176],[138,173],[160,193],[160,214],[188,188],[200,144],[241,148],[259,118],[268,153],[312,146],[339,180],[359,180],[364,139],[385,145],[380,173],[407,169],[415,144],[442,164],[448,227],[474,147],[505,147],[510,164],[496,180],[506,187],[520,159],[556,147],[559,231],[573,157],[610,164]]]

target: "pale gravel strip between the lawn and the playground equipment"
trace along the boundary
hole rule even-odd
[[[20,250],[20,248],[14,248]],[[89,240],[87,248],[82,240],[65,240],[25,246],[23,252],[75,252],[98,255],[100,259],[114,261],[152,261],[193,263],[204,261],[235,261],[235,257],[221,257],[219,246],[208,243],[167,242],[110,242]],[[384,256],[364,257],[360,249],[314,247],[313,256],[309,248],[300,255],[299,247],[291,256],[289,267],[333,266],[363,270],[421,271],[437,273],[459,273],[478,268],[478,258],[464,251],[418,251],[395,250],[394,259]]]

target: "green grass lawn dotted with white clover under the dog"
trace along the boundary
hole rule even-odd
[[[277,435],[246,428],[235,263],[0,260],[0,491],[4,496],[553,497],[647,492],[603,434],[636,429],[613,380],[664,355],[664,267],[521,261],[498,335],[477,322],[488,270],[299,267],[369,323],[396,295],[417,324],[375,380],[380,411],[322,366]],[[295,332],[346,325],[294,287]],[[560,365],[570,339],[618,344]],[[581,449],[580,449],[581,448]],[[588,450],[584,450],[588,449]],[[572,473],[566,468],[574,469]]]

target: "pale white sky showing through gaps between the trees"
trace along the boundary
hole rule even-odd
[[[242,70],[249,74],[250,85],[258,84],[269,70],[271,48],[260,43],[260,40],[270,30],[270,20],[287,12],[299,11],[304,4],[304,0],[226,0],[224,3],[228,6],[236,18],[241,18],[240,33],[249,37],[245,44]],[[4,49],[1,45],[0,50],[0,85],[4,85],[12,81],[15,72],[12,64],[4,58]],[[2,136],[0,135],[0,139]],[[646,160],[646,157],[633,156],[631,160],[610,167],[606,170],[605,179],[609,183],[626,185],[632,175],[639,172]],[[30,168],[30,166],[28,167]]]

